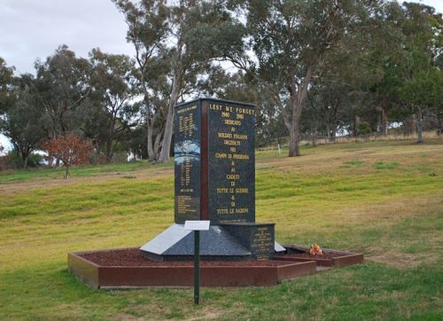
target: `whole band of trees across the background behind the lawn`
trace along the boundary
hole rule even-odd
[[[0,130],[20,163],[74,132],[97,146],[167,161],[173,107],[198,97],[257,106],[257,146],[363,131],[393,122],[417,141],[443,128],[441,14],[387,0],[113,0],[135,59],[61,45],[14,74],[0,58]],[[363,134],[364,135],[364,134]]]

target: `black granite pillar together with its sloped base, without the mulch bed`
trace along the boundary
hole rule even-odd
[[[141,247],[156,261],[191,260],[186,220],[209,220],[201,232],[206,260],[268,259],[284,247],[274,223],[255,223],[255,107],[200,98],[175,106],[175,224]]]

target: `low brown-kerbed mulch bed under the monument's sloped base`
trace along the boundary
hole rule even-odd
[[[154,262],[137,247],[69,253],[68,270],[93,288],[192,286],[192,262]],[[201,262],[201,286],[276,286],[315,273],[315,262]]]

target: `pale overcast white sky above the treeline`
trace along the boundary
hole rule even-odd
[[[443,12],[442,0],[415,2]],[[0,57],[16,74],[34,73],[35,59],[46,59],[61,44],[81,57],[97,47],[133,56],[126,30],[111,0],[0,0]],[[2,135],[0,144],[11,147]]]

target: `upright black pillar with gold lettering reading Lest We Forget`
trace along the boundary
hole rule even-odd
[[[175,223],[255,222],[254,123],[253,105],[175,107]]]

